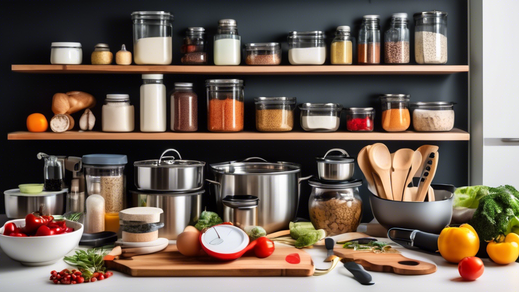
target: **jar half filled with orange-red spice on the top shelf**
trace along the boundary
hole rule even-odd
[[[359,64],[380,63],[380,16],[362,17],[357,47]]]

